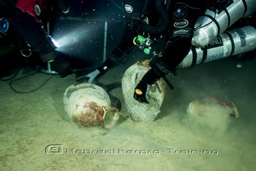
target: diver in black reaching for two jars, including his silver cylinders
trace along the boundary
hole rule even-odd
[[[124,7],[130,22],[121,42],[102,65],[85,77],[89,78],[88,82],[91,83],[99,75],[123,63],[127,53],[136,45],[139,50],[152,56],[149,64],[151,69],[134,90],[134,98],[146,103],[148,103],[148,91],[151,85],[167,74],[176,75],[177,66],[188,55],[189,50],[193,49],[192,53],[195,54],[192,57],[192,64],[201,64],[211,59],[211,56],[208,58],[207,49],[204,48],[204,50],[198,50],[203,54],[202,58],[198,56],[198,60],[195,46],[206,47],[236,20],[243,16],[249,18],[256,10],[255,2],[250,0],[125,0]],[[199,22],[198,19],[200,19]],[[211,21],[208,22],[208,20]],[[195,34],[196,31],[197,34]],[[255,28],[247,32],[251,34],[250,31],[255,31]],[[255,49],[253,42],[252,46],[245,45],[247,40],[245,31],[241,30],[239,34],[238,42],[241,42],[240,45],[246,50],[243,47],[235,48],[236,41],[233,40],[232,35],[228,34],[227,39],[230,39],[230,43],[227,45],[232,45],[231,50],[224,53],[227,48],[223,47],[222,42],[223,52],[219,55],[220,57],[217,56],[218,58]]]

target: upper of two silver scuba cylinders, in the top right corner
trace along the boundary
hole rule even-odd
[[[217,12],[219,11],[219,12]],[[207,9],[195,24],[192,45],[204,47],[240,18],[248,18],[256,11],[255,0],[232,0],[222,4],[221,10]]]

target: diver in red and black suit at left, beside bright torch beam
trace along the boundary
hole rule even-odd
[[[49,62],[51,68],[61,77],[72,73],[69,62],[57,53],[47,31],[45,31],[42,20],[49,15],[48,7],[50,1],[47,0],[1,0],[1,8],[10,12],[12,26],[20,40],[20,53],[31,56],[37,53],[43,62]],[[68,12],[64,1],[58,0],[56,3],[61,7],[61,11]]]

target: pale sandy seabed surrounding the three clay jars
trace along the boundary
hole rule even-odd
[[[133,59],[135,60],[135,59]],[[168,75],[162,112],[153,123],[129,118],[121,88],[118,125],[104,130],[78,127],[64,112],[65,89],[75,75],[54,76],[37,91],[17,94],[0,82],[1,170],[255,170],[256,61],[236,68],[222,59]],[[99,79],[119,83],[129,64]],[[18,75],[21,77],[23,75]],[[13,83],[19,91],[40,86],[51,75],[38,73]],[[198,129],[186,121],[189,102],[203,95],[232,100],[240,114],[225,132]],[[196,123],[195,123],[196,124]]]

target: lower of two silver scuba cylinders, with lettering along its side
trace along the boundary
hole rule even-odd
[[[252,26],[225,31],[206,47],[192,46],[188,55],[178,64],[185,68],[204,62],[214,61],[256,49],[256,29]]]

